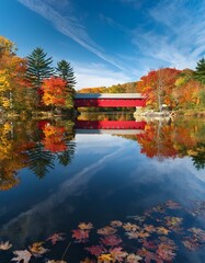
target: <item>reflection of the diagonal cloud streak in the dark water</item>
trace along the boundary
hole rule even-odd
[[[61,226],[60,214],[56,213],[59,206],[65,204],[61,216],[67,216],[69,222],[77,209],[77,207],[73,207],[71,197],[83,196],[90,180],[98,176],[99,172],[104,169],[107,162],[113,162],[113,160],[123,153],[124,148],[118,146],[114,152],[100,157],[95,163],[83,168],[80,172],[67,179],[56,188],[56,192],[50,192],[50,195],[46,199],[20,213],[19,216],[13,217],[5,225],[1,226],[1,235],[13,240],[13,243],[18,248],[23,247],[29,238],[37,239],[42,231],[45,237],[48,237],[52,232],[56,231],[57,226]],[[48,218],[53,218],[53,220],[48,220]]]

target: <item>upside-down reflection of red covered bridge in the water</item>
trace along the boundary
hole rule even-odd
[[[76,121],[77,134],[141,134],[146,122],[136,121]]]

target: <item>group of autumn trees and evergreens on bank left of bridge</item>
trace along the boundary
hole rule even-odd
[[[0,36],[0,111],[64,112],[73,107],[76,77],[70,62],[53,58],[36,47],[26,58],[16,45]]]

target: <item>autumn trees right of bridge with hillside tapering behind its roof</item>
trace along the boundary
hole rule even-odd
[[[137,82],[128,82],[98,88],[84,88],[81,93],[133,93],[147,98],[147,107],[162,111],[205,107],[205,59],[202,58],[195,70],[160,68],[150,70]]]

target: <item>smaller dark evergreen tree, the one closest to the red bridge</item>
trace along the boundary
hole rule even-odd
[[[76,77],[70,64],[67,62],[66,60],[57,62],[56,71],[60,78],[68,82],[68,91],[73,91],[76,84]]]

